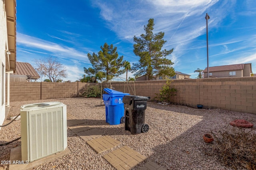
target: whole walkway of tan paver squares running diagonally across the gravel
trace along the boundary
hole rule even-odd
[[[84,121],[77,119],[73,115],[67,114],[67,119],[68,128],[84,139],[97,153],[102,153],[121,144],[120,141],[108,135],[102,137],[104,135],[102,131],[86,125]],[[117,170],[130,170],[146,159],[145,156],[130,149],[128,146],[113,150],[102,157]],[[150,161],[140,170],[165,170],[165,168]]]

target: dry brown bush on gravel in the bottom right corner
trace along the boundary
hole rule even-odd
[[[206,145],[206,153],[217,156],[234,169],[256,169],[256,129],[232,127],[227,124],[220,131],[212,131],[214,142]]]

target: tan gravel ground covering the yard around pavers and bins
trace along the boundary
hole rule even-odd
[[[148,102],[145,123],[150,127],[148,133],[131,135],[124,130],[124,124],[109,125],[106,123],[105,106],[100,99],[65,98],[52,100],[33,100],[25,102],[11,102],[7,119],[20,113],[20,106],[24,104],[58,101],[67,105],[70,113],[84,122],[94,125],[100,131],[121,142],[117,149],[124,145],[136,150],[147,159],[135,166],[138,170],[150,160],[171,170],[191,169],[231,169],[222,164],[218,158],[207,156],[204,152],[206,144],[202,135],[211,130],[222,129],[234,119],[246,119],[255,124],[256,115],[239,113],[221,109],[196,109],[187,106],[159,105]],[[6,120],[4,124],[10,120]],[[0,130],[0,143],[6,143],[20,137],[20,120],[14,121]],[[20,146],[20,140],[11,145],[0,146],[0,160],[9,160],[10,150]],[[97,154],[84,140],[68,129],[68,148],[71,154],[62,156],[47,164],[34,168],[45,169],[81,169],[81,170],[114,170],[102,156],[111,150]],[[0,164],[0,169],[8,169]],[[242,169],[242,167],[238,167]]]

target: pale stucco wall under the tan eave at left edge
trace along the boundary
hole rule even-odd
[[[5,119],[5,50],[8,49],[5,0],[0,1],[0,30],[0,125],[2,125]]]

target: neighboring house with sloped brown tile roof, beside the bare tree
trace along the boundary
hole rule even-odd
[[[39,74],[29,63],[16,62],[16,72],[10,75],[11,81],[28,81],[37,80]]]

